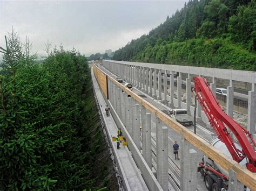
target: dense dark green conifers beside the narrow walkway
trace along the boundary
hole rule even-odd
[[[85,56],[60,46],[36,63],[14,30],[0,51],[0,189],[117,187]]]

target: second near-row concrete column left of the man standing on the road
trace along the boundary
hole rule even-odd
[[[145,127],[142,128],[142,155],[150,169],[152,168],[151,155],[151,114],[146,114]]]

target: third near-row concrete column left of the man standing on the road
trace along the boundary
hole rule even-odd
[[[140,150],[140,129],[139,129],[139,104],[134,104],[133,107],[133,141],[136,144],[137,148]]]

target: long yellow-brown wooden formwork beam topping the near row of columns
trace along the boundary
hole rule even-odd
[[[95,67],[93,67],[93,69],[94,68]],[[99,70],[100,69],[97,68],[97,71]],[[107,76],[107,74],[105,74],[102,70],[100,70],[100,73],[103,73],[105,76]],[[238,164],[238,162],[232,159],[229,159],[224,153],[217,150],[217,148],[213,147],[210,143],[207,143],[204,139],[194,134],[192,131],[188,130],[183,125],[179,124],[176,121],[173,121],[173,119],[170,116],[164,114],[164,112],[154,107],[152,104],[144,100],[142,97],[133,93],[133,91],[131,91],[130,89],[125,88],[122,84],[120,84],[115,79],[113,79],[113,77],[107,76],[107,79],[109,79],[114,84],[116,84],[116,86],[119,86],[127,94],[131,95],[134,98],[134,100],[142,104],[153,115],[161,119],[161,121],[163,121],[166,125],[168,125],[169,128],[173,129],[179,134],[182,134],[188,142],[196,146],[201,152],[203,152],[212,160],[217,162],[227,172],[229,172],[229,169],[232,169],[234,172],[236,172],[237,179],[241,183],[243,183],[246,187],[250,188],[251,190],[256,190],[256,175],[254,173],[252,173],[251,171],[248,171],[247,168],[245,168],[244,166],[241,166],[240,164]],[[107,87],[105,87],[105,89],[106,88]]]

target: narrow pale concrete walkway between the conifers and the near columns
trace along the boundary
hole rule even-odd
[[[117,136],[117,125],[116,123],[114,123],[114,119],[111,116],[111,114],[109,117],[106,116],[106,102],[104,100],[102,92],[99,89],[98,83],[93,72],[91,72],[91,75],[96,97],[100,105],[100,112],[102,113],[104,123],[106,126],[107,135],[109,137],[113,153],[116,157],[115,159],[119,167],[119,172],[122,175],[123,186],[126,190],[149,190],[128,148],[120,144],[121,148],[117,150],[116,142],[112,142],[112,136]]]

